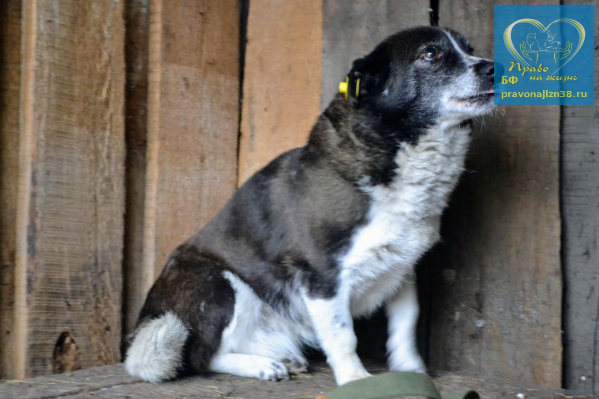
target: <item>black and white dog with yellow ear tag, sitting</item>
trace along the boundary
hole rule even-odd
[[[332,100],[308,143],[252,176],[171,254],[126,370],[150,382],[205,371],[287,379],[306,370],[308,345],[341,385],[370,375],[352,318],[384,306],[389,368],[425,372],[414,267],[439,239],[468,121],[494,109],[493,75],[464,37],[432,27],[356,60],[349,98]]]

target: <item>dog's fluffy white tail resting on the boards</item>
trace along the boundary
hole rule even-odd
[[[153,383],[176,377],[183,363],[187,336],[189,330],[173,312],[143,322],[127,351],[125,369],[132,376]]]

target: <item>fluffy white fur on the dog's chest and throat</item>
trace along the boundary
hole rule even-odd
[[[341,257],[341,285],[353,316],[367,315],[410,278],[419,258],[439,238],[441,212],[464,170],[467,127],[441,127],[404,145],[388,186],[364,185],[372,200],[367,223]]]

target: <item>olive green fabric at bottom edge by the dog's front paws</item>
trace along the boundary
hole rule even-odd
[[[340,386],[326,395],[326,399],[389,399],[419,396],[426,399],[443,399],[431,377],[412,371],[379,374]],[[479,394],[467,391],[452,394],[444,399],[480,399]]]

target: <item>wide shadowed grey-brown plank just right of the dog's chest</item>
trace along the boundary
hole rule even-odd
[[[440,0],[438,15],[492,57],[492,2]],[[442,370],[560,386],[560,109],[504,108],[484,132],[475,124],[468,172],[443,217],[429,358]]]

